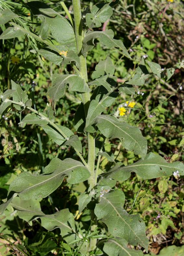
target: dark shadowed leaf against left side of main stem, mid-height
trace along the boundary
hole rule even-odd
[[[79,133],[84,132],[85,122],[86,122],[86,118],[84,113],[84,105],[81,102],[80,106],[78,107],[74,115],[74,127],[77,132]]]

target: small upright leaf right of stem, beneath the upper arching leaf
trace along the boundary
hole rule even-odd
[[[92,73],[92,79],[99,78],[104,75],[113,75],[115,67],[110,57],[107,57],[104,61],[99,61],[95,67],[95,71]]]

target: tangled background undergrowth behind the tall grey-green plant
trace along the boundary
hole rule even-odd
[[[24,2],[26,1],[0,0],[0,9],[9,8],[18,15],[25,16],[27,22],[32,24],[32,31],[38,32],[37,23],[41,20],[33,18],[30,10],[24,7]],[[71,1],[65,2],[72,12]],[[97,2],[84,1],[84,12]],[[59,1],[45,0],[45,3],[65,16]],[[135,106],[127,108],[126,118],[132,125],[139,125],[143,136],[149,142],[149,151],[158,152],[168,162],[184,161],[183,15],[184,5],[180,0],[120,0],[114,7],[113,16],[100,29],[113,29],[115,38],[123,41],[133,61],[122,58],[119,49],[106,49],[99,42],[87,57],[88,72],[91,74],[100,60],[110,56],[119,83],[131,78],[141,57],[159,63],[162,68],[173,67],[179,59],[181,60],[170,80],[163,78],[160,83],[156,76],[150,78],[142,88],[135,86],[134,96],[126,98],[122,93],[109,111],[115,113],[126,101],[135,102]],[[23,20],[20,19],[19,22]],[[6,29],[6,25],[0,23],[2,31]],[[26,23],[24,25],[26,26]],[[10,80],[13,79],[29,92],[35,108],[43,112],[52,74],[62,74],[65,67],[55,65],[42,56],[37,58],[37,55],[30,52],[37,49],[37,42],[31,37],[1,40],[0,45],[0,92],[10,88]],[[58,102],[57,122],[67,124],[67,127],[72,129],[74,113],[79,105],[80,98],[76,98],[76,94],[66,93]],[[72,148],[57,146],[41,128],[32,129],[31,125],[20,123],[24,116],[24,111],[11,111],[0,119],[0,200],[6,198],[9,184],[20,172],[42,173],[43,167],[55,157],[64,159],[67,155],[78,159]],[[116,141],[113,144],[105,141],[105,151],[109,152],[109,155],[113,152],[116,160],[124,164],[138,160],[133,152],[124,151]],[[86,148],[83,147],[83,153],[85,152]],[[101,159],[102,170],[112,164],[104,156]],[[76,220],[89,222],[88,210],[82,217],[78,214],[77,201],[84,186],[83,183],[76,186],[64,182],[62,187],[48,198],[42,199],[43,211],[51,214],[55,210],[69,208]],[[169,255],[172,250],[176,252],[177,249],[173,246],[177,246],[180,250],[177,255],[183,255],[183,178],[173,176],[143,182],[132,174],[129,180],[117,183],[117,187],[125,193],[125,206],[133,204],[133,208],[126,210],[140,213],[146,222],[151,241],[150,254]],[[53,205],[55,209],[52,209]],[[16,211],[13,212],[11,207],[0,219],[0,234],[1,255],[21,255],[18,250],[21,248],[26,248],[28,255],[77,255],[61,240],[57,229],[48,232],[41,227],[38,220],[28,224],[18,219]],[[168,252],[165,248],[167,246],[172,246]]]

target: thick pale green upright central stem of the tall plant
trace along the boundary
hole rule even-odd
[[[82,28],[82,15],[81,15],[81,8],[80,8],[80,0],[72,0],[73,3],[73,12],[74,12],[74,22],[75,22],[75,37],[77,43],[77,51],[80,58],[80,74],[85,82],[88,82],[88,74],[87,74],[87,65],[86,65],[86,58],[84,58],[81,54],[82,49],[82,41],[84,38],[84,31]],[[90,104],[90,94],[89,92],[82,93],[82,101],[84,104],[84,112],[85,116],[87,116],[88,108]],[[94,177],[94,161],[95,161],[95,139],[94,135],[88,133],[88,168],[90,171],[90,178],[88,179],[89,187],[92,189],[95,184],[95,177]],[[91,231],[93,231],[96,227],[96,219],[94,216],[94,212],[91,212]],[[95,225],[94,225],[95,223]],[[95,249],[96,247],[96,239],[90,240],[90,250]]]

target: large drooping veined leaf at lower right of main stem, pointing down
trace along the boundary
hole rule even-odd
[[[148,250],[149,241],[145,235],[145,224],[138,214],[129,215],[123,205],[125,195],[122,191],[113,191],[101,196],[100,203],[96,204],[94,213],[104,222],[110,234],[124,238],[129,244],[140,244]]]

